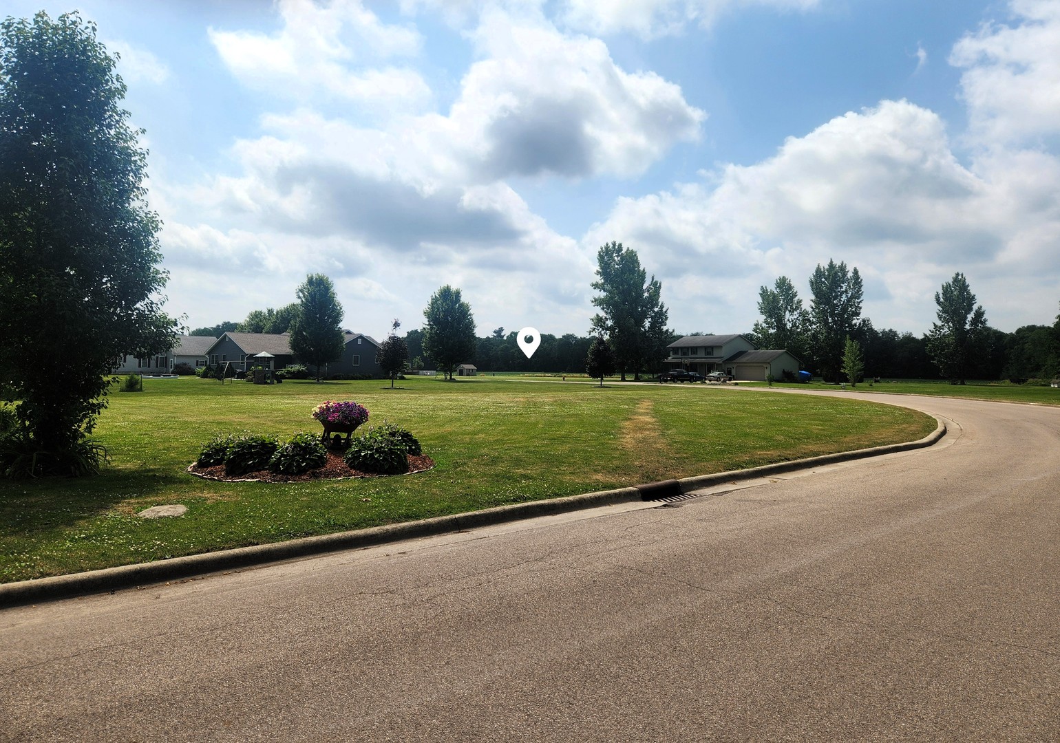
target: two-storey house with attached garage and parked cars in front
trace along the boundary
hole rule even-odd
[[[689,335],[670,343],[662,362],[707,375],[729,374],[739,382],[779,379],[784,370],[798,371],[799,360],[788,351],[759,350],[743,335]]]

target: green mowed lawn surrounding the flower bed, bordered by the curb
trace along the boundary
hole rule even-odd
[[[707,386],[477,377],[244,382],[145,379],[112,392],[91,478],[0,481],[0,582],[326,534],[541,498],[919,439],[930,417],[855,399]],[[313,407],[355,400],[410,429],[430,472],[290,484],[187,473],[215,434],[317,432]],[[179,518],[142,519],[182,503]]]

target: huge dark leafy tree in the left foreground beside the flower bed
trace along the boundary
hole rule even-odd
[[[0,368],[53,471],[93,468],[84,438],[114,359],[176,342],[114,64],[76,13],[0,24]]]

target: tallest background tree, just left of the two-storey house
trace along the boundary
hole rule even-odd
[[[611,339],[624,381],[628,371],[653,367],[658,360],[654,356],[661,354],[660,341],[670,335],[666,329],[669,313],[660,299],[662,285],[654,276],[648,279],[635,250],[616,242],[597,251],[596,275],[593,288],[600,296],[593,298],[593,304],[600,313],[593,318],[593,329]]]

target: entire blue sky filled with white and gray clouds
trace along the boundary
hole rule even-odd
[[[12,15],[69,5],[5,5]],[[585,334],[596,250],[678,333],[739,333],[829,259],[878,329],[964,272],[1060,301],[1060,0],[86,0],[122,53],[190,326],[335,281],[346,325],[463,290],[480,335]]]

